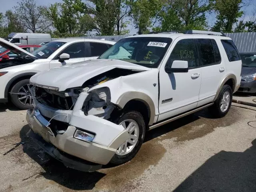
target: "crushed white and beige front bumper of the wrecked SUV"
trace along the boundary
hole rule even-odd
[[[97,126],[95,130],[99,131],[102,130],[102,132],[106,133],[106,129],[109,129],[109,132],[111,133],[111,126],[116,131],[116,124],[111,123],[107,120],[98,118],[98,117],[89,117],[86,116],[85,118],[80,117],[81,119],[78,119],[76,116],[76,120],[82,121],[79,129],[83,130],[82,124],[84,127],[90,126],[90,129],[92,129],[92,126]],[[92,163],[96,164],[108,164],[108,162],[111,160],[111,158],[116,153],[116,149],[122,142],[127,140],[129,138],[129,134],[126,130],[120,130],[120,134],[115,138],[112,138],[111,135],[105,135],[105,138],[108,138],[108,143],[106,146],[93,142],[85,142],[82,140],[78,140],[74,138],[74,133],[77,129],[77,127],[69,125],[67,130],[63,134],[52,134],[52,130],[49,128],[48,121],[40,114],[40,111],[38,109],[30,109],[27,112],[26,120],[31,128],[31,130],[40,136],[46,143],[47,147],[42,147],[42,142],[37,142],[48,154],[56,158],[57,160],[60,160],[63,162],[66,166],[69,164],[72,164],[72,168],[76,167],[77,164],[76,160],[72,160],[68,157],[65,157],[65,155],[58,154],[59,152],[64,152],[66,154],[69,154],[71,156],[74,156],[74,158],[80,158],[82,161],[86,160]],[[75,121],[77,122],[77,121]],[[113,125],[112,125],[113,124]],[[101,127],[99,127],[101,126]],[[120,128],[119,126],[117,128]],[[85,129],[84,129],[85,130]],[[96,132],[96,136],[101,136],[102,132]],[[34,138],[34,137],[33,137]],[[96,140],[96,137],[95,139]],[[97,140],[96,140],[97,141]],[[43,145],[45,146],[45,145]],[[51,147],[49,147],[51,146]],[[68,160],[67,160],[68,159]],[[73,162],[73,163],[70,163]],[[70,167],[70,166],[68,166]],[[78,166],[79,167],[79,166]],[[90,165],[91,167],[91,165]],[[96,166],[96,168],[100,168],[100,166]],[[75,168],[76,169],[76,168]],[[79,169],[81,170],[81,169]],[[83,168],[83,170],[86,170],[86,168]],[[92,171],[93,168],[88,169],[88,171]]]

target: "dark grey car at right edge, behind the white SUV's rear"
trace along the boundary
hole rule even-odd
[[[256,52],[240,53],[242,59],[242,79],[238,92],[256,92]]]

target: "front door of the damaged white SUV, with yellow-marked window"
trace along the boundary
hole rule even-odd
[[[188,61],[188,72],[166,73],[161,66],[158,121],[196,108],[201,84],[201,69],[198,68],[193,39],[176,39],[176,44],[166,65],[174,60]]]

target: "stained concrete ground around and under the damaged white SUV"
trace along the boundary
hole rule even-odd
[[[86,173],[44,154],[26,137],[26,111],[1,104],[0,191],[255,192],[255,110],[232,106],[214,119],[206,109],[176,120],[147,132],[132,161]]]

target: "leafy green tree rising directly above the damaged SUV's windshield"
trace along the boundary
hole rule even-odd
[[[138,34],[147,33],[152,27],[152,20],[161,10],[161,0],[136,0],[131,4],[131,17]]]

